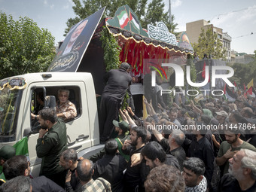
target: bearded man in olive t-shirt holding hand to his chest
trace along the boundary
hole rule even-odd
[[[225,138],[226,141],[221,143],[218,155],[216,157],[216,163],[221,167],[221,176],[228,172],[229,163],[228,160],[233,158],[234,154],[237,151],[240,151],[242,148],[247,148],[251,151],[256,151],[253,145],[248,142],[242,141],[240,139],[239,130],[235,128],[236,124],[228,124],[227,129],[225,128]],[[239,125],[237,125],[239,126]]]

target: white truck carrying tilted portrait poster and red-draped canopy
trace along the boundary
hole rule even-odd
[[[188,43],[185,41],[181,42],[186,45],[182,48],[181,45],[178,47],[176,41],[170,44],[169,41],[163,42],[149,37],[128,5],[118,8],[112,19],[105,18],[99,23],[104,10],[105,8],[102,8],[72,27],[47,72],[17,75],[0,80],[0,148],[4,145],[14,145],[24,137],[28,138],[33,176],[38,175],[41,166],[41,159],[35,151],[40,126],[31,116],[39,105],[39,93],[44,93],[44,108],[50,108],[55,106],[59,89],[69,90],[69,100],[75,104],[78,114],[66,122],[67,145],[78,151],[79,157],[90,157],[104,147],[99,142],[96,95],[102,93],[102,76],[106,72],[105,58],[109,59],[111,54],[103,51],[100,41],[102,30],[107,30],[108,34],[116,39],[121,49],[120,62],[130,62],[133,75],[138,79],[144,75],[143,66],[158,67],[163,61],[181,65],[186,62],[187,55],[193,53],[187,49]],[[119,17],[120,13],[127,16],[125,23]],[[166,29],[163,23],[160,23],[159,29],[154,26],[151,28],[153,33]],[[78,31],[76,29],[81,29],[80,35],[72,41],[72,34]],[[160,33],[166,35],[163,37],[165,40],[172,38],[169,32]],[[71,46],[68,49],[69,44]],[[161,62],[153,63],[150,60],[146,64],[145,59],[157,59],[157,62]],[[135,102],[138,101],[137,110],[142,111],[142,83],[134,84],[131,92]]]

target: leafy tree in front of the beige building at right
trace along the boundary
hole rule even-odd
[[[198,43],[192,44],[192,47],[200,58],[203,58],[206,53],[211,55],[213,59],[226,59],[226,50],[223,48],[218,35],[213,33],[212,27],[209,27],[206,32],[202,28]]]

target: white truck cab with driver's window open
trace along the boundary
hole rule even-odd
[[[77,117],[66,122],[68,148],[78,151],[79,157],[89,157],[104,146],[99,145],[96,94],[90,73],[32,73],[0,81],[0,148],[27,136],[33,176],[39,173],[41,159],[35,151],[39,129],[31,113],[38,105],[38,93],[44,93],[44,107],[49,107],[47,98],[57,99],[61,88],[70,91],[69,100],[78,111]]]

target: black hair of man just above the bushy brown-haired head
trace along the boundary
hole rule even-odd
[[[166,152],[157,142],[149,142],[147,145],[145,145],[145,147],[142,149],[142,156],[146,156],[150,160],[156,160],[158,158],[161,163],[166,161]]]

